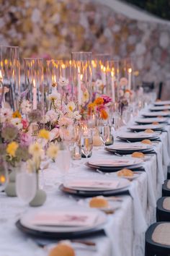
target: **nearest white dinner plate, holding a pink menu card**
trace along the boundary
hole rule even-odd
[[[50,214],[50,218],[53,218],[56,213],[62,213],[63,211],[69,216],[73,216],[73,218],[87,218],[88,216],[94,216],[93,223],[89,222],[87,226],[58,226],[54,225],[47,225],[46,221],[44,224],[36,225],[34,219],[36,215],[39,214],[42,210],[34,211],[33,213],[26,213],[20,218],[20,222],[22,226],[27,227],[28,229],[32,229],[34,231],[45,231],[45,232],[76,232],[76,231],[87,231],[89,229],[95,229],[98,226],[104,224],[107,221],[107,217],[104,213],[99,210],[91,209],[91,208],[82,208],[80,206],[76,207],[67,207],[67,208],[60,208],[55,210],[48,210]],[[76,214],[74,214],[76,213]],[[83,214],[84,213],[84,214]]]

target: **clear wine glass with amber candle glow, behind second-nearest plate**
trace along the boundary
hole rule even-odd
[[[93,150],[93,135],[91,129],[85,129],[81,135],[81,152],[86,156],[86,158],[91,155]]]

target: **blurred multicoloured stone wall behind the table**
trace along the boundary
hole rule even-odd
[[[70,58],[71,51],[133,56],[137,83],[164,81],[170,94],[170,26],[131,20],[91,0],[2,0],[1,45],[21,56]]]

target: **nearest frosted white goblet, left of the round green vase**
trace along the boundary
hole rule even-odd
[[[16,192],[19,199],[29,203],[35,197],[37,191],[37,175],[30,171],[27,162],[23,162],[16,175]]]

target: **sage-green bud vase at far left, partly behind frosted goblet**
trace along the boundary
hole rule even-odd
[[[15,183],[16,172],[17,172],[17,167],[12,167],[12,172],[9,174],[9,182],[5,188],[5,192],[8,197],[17,197],[16,183]]]

